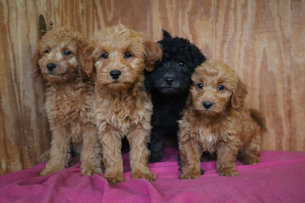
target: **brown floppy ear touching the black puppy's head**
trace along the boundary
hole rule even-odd
[[[157,62],[161,61],[162,49],[161,45],[155,42],[145,41],[144,65],[147,71],[152,71]]]

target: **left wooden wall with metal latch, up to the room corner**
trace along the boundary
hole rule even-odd
[[[34,166],[50,147],[45,81],[33,78],[31,63],[40,14],[47,27],[53,21],[54,27],[94,35],[93,2],[0,1],[0,175]]]

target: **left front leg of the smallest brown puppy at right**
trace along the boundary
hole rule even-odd
[[[181,173],[179,179],[198,179],[203,170],[200,168],[201,146],[191,138],[179,141]]]

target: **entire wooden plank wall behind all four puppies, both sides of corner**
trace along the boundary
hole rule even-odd
[[[305,150],[305,0],[0,0],[0,175],[39,163],[51,140],[30,61],[39,14],[86,38],[118,22],[188,38],[249,86],[245,106],[267,117],[263,149]]]

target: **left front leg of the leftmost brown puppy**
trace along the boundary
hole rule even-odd
[[[52,131],[50,160],[39,175],[44,176],[65,169],[70,159],[69,132],[65,127],[61,126]]]

